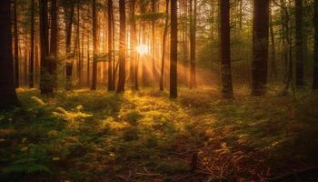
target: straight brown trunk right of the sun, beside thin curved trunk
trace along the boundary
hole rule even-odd
[[[170,97],[176,98],[177,91],[177,59],[178,59],[178,19],[177,0],[171,0],[171,37],[170,37]]]

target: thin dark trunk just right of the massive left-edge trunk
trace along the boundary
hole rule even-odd
[[[15,87],[20,86],[20,74],[19,74],[19,33],[17,30],[17,5],[14,1],[14,21],[15,21]]]

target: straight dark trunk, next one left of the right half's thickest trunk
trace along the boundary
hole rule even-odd
[[[222,94],[224,98],[233,97],[231,74],[231,35],[230,35],[230,1],[220,0],[220,60]]]

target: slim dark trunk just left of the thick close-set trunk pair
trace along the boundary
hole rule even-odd
[[[29,87],[35,87],[35,0],[31,0]]]

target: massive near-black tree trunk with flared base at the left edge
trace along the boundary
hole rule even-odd
[[[12,57],[11,0],[0,1],[0,109],[19,104]]]

